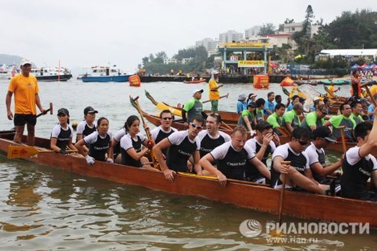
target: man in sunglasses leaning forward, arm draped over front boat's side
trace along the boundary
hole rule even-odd
[[[198,164],[200,155],[200,141],[198,133],[203,129],[204,120],[202,116],[194,117],[188,130],[176,131],[163,139],[154,148],[156,157],[159,160],[161,170],[167,180],[173,181],[176,172],[187,172],[187,161],[192,155],[194,170],[196,174],[202,174],[202,168]],[[162,150],[167,149],[166,162]]]

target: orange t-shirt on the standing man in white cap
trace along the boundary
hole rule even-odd
[[[35,76],[19,74],[10,79],[8,91],[14,94],[14,113],[36,115],[35,94],[39,92]]]

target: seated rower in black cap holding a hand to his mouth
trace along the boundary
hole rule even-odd
[[[272,154],[276,146],[280,145],[280,140],[277,134],[273,132],[272,126],[266,121],[259,122],[255,129],[257,135],[247,140],[245,145],[249,146],[255,156],[267,166],[269,154]],[[246,170],[246,179],[256,183],[266,183],[266,177],[252,165]]]

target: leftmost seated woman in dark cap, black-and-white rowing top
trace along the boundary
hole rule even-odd
[[[77,150],[72,144],[73,128],[69,125],[69,111],[60,108],[57,111],[59,123],[54,126],[51,132],[51,149],[68,155],[66,150]]]

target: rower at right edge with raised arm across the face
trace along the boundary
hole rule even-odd
[[[376,116],[377,109],[374,111]],[[363,201],[377,201],[375,193],[368,191],[367,181],[377,185],[377,161],[371,154],[377,147],[377,120],[373,126],[362,122],[354,129],[357,145],[350,148],[343,160],[343,175],[340,179],[342,196]]]

